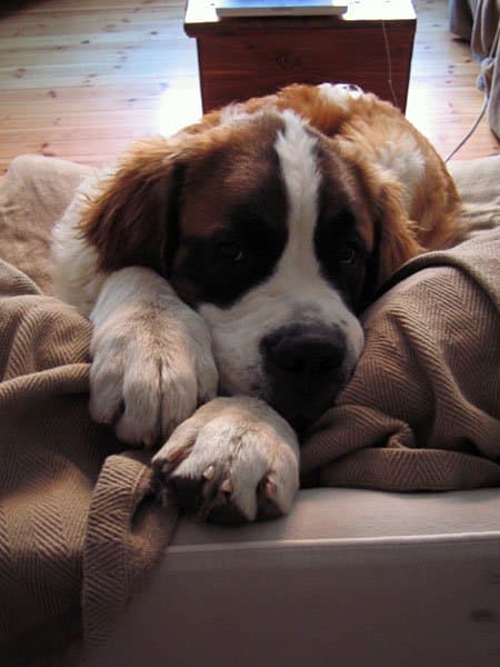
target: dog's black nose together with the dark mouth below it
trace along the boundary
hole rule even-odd
[[[296,323],[272,331],[260,347],[268,402],[303,430],[332,406],[347,382],[344,334],[321,323]]]

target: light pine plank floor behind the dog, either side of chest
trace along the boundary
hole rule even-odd
[[[101,163],[131,140],[200,113],[182,0],[31,0],[0,18],[0,173],[20,153]],[[482,94],[446,0],[417,0],[408,116],[447,155]],[[2,7],[6,2],[2,3]],[[497,155],[483,120],[457,159]]]

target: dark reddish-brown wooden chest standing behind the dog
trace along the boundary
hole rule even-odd
[[[203,111],[289,83],[348,82],[403,111],[417,27],[410,0],[351,2],[341,17],[218,19],[189,0],[184,29],[198,47]]]

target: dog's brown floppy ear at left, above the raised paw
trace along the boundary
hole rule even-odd
[[[176,242],[181,178],[179,151],[158,138],[133,147],[99,182],[80,230],[97,249],[100,269],[139,265],[167,273]]]

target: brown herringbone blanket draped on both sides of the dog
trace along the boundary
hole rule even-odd
[[[0,183],[0,256],[48,292],[49,229],[87,169],[40,160],[17,161]],[[304,479],[500,486],[499,257],[493,229],[406,270],[368,313],[356,375],[303,446]],[[147,457],[89,419],[89,322],[18,268],[0,262],[1,665],[101,641],[176,521],[154,501]]]

